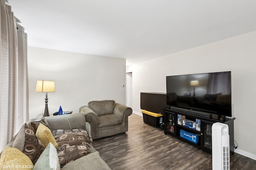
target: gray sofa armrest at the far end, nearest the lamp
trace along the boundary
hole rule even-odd
[[[72,113],[66,115],[56,115],[44,117],[51,126],[56,129],[86,129],[86,119],[82,113]]]

